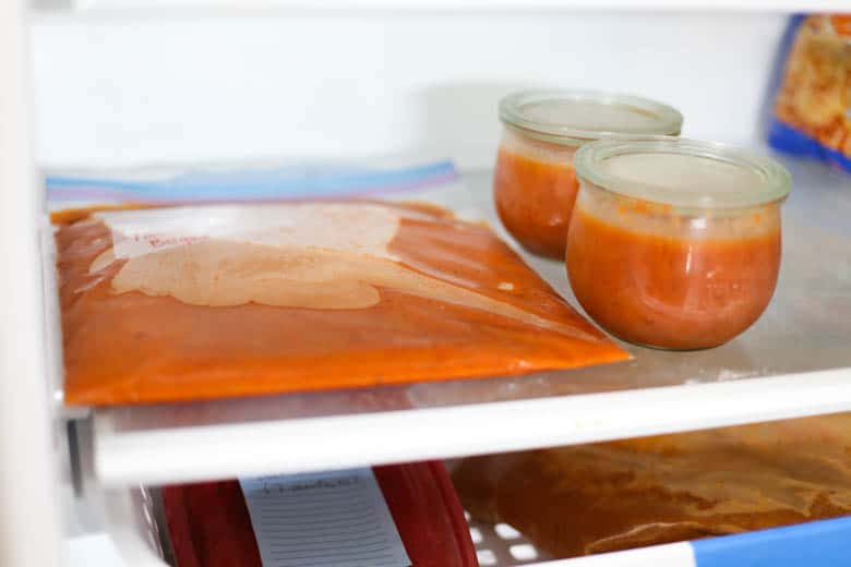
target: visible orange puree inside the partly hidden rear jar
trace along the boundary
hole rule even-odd
[[[564,257],[578,189],[568,158],[543,161],[500,149],[493,181],[496,212],[508,232],[530,252]]]

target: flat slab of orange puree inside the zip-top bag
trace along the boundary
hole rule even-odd
[[[65,402],[350,388],[628,358],[488,227],[435,207],[381,206],[398,216],[396,232],[351,253],[350,241],[299,248],[269,232],[121,257],[110,255],[108,216],[56,217]],[[307,228],[329,230],[325,220]]]

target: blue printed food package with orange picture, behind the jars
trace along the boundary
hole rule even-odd
[[[851,14],[793,16],[780,57],[769,144],[851,172]]]

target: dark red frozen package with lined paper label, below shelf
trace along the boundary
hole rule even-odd
[[[477,567],[440,462],[166,486],[177,567]]]

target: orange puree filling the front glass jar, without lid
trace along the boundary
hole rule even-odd
[[[577,208],[566,250],[571,286],[591,318],[630,342],[721,345],[750,327],[775,291],[779,218],[763,221],[764,230],[697,239],[642,232]]]

